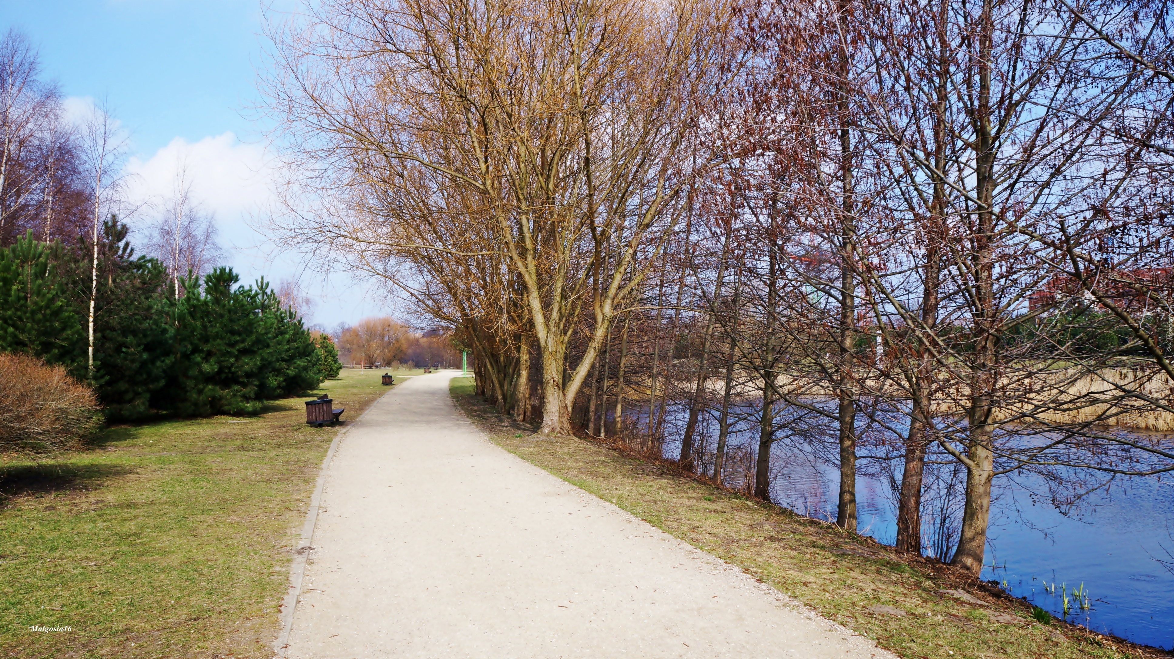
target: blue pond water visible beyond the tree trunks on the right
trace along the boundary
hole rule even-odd
[[[670,440],[663,451],[667,457],[676,457],[686,410],[670,407],[667,416],[670,430],[666,435]],[[633,421],[645,420],[643,410],[633,410]],[[707,417],[702,426],[702,441],[713,451],[716,423]],[[726,482],[731,487],[742,484],[751,473],[750,455],[758,433],[748,419],[735,428],[729,440],[730,461],[726,474]],[[834,519],[839,475],[826,457],[821,460],[803,448],[776,443],[771,450],[775,503],[812,517]],[[957,478],[956,484],[960,488],[964,478],[960,469]],[[1012,595],[1026,597],[1057,617],[1065,617],[1064,598],[1067,596],[1070,621],[1134,643],[1174,650],[1174,573],[1156,561],[1174,562],[1170,556],[1174,553],[1174,475],[1118,478],[1111,487],[1086,497],[1067,515],[1052,505],[1046,495],[1033,496],[1033,492],[1046,492],[1043,483],[1034,478],[996,477],[986,568],[981,578],[999,582]],[[890,545],[896,538],[895,488],[896,482],[884,474],[859,476],[857,481],[861,532]],[[931,498],[927,492],[926,508],[944,505],[951,497],[939,497],[939,503]],[[958,500],[957,496],[952,498]],[[954,524],[952,530],[949,524],[939,526],[945,532],[923,531],[931,544],[936,535],[946,537],[957,532],[958,503],[953,501],[953,514],[946,510],[939,510],[940,515],[933,510],[923,512],[927,526],[932,526],[935,519],[952,519]],[[1080,600],[1087,603],[1087,609],[1080,607]]]

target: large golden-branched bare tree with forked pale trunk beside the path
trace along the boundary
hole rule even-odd
[[[637,254],[679,217],[694,101],[720,87],[726,12],[688,0],[328,2],[274,35],[271,107],[297,136],[291,158],[345,169],[322,165],[303,189],[342,183],[369,217],[367,191],[391,183],[464,190],[466,220],[491,243],[461,256],[500,253],[517,278],[541,358],[542,430],[566,432],[618,306],[652,267]],[[402,259],[450,249],[404,229]],[[568,364],[586,312],[586,349]]]

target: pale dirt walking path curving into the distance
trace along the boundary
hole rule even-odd
[[[404,382],[338,444],[288,657],[895,659],[490,443],[453,375]]]

